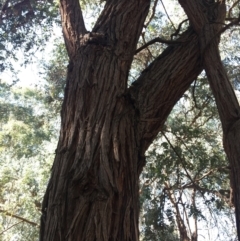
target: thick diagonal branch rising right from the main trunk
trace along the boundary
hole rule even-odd
[[[198,36],[187,30],[129,89],[139,110],[139,138],[145,151],[163,127],[173,106],[202,71]]]

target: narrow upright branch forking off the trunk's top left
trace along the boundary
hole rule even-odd
[[[76,53],[80,38],[87,32],[79,0],[61,0],[63,36],[69,56]]]

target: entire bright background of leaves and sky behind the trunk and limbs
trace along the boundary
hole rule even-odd
[[[62,37],[52,35],[60,29],[57,2],[7,2],[0,1],[0,240],[38,240],[41,202],[59,136],[68,57]],[[139,47],[152,39],[159,41],[136,53],[129,85],[168,46],[163,39],[188,27],[176,3],[152,1]],[[90,28],[104,3],[81,4]],[[239,2],[228,4],[229,16],[238,16]],[[220,46],[238,95],[236,43],[239,26],[224,32]],[[37,80],[28,76],[20,80],[19,70],[28,71],[31,65]],[[141,240],[181,240],[182,233],[192,241],[237,240],[230,167],[221,143],[221,123],[203,72],[148,150],[140,180]]]

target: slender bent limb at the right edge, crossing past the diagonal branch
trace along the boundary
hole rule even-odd
[[[226,15],[225,2],[179,0],[200,36],[202,60],[215,96],[223,128],[223,144],[231,166],[236,224],[240,237],[240,107],[219,55],[219,31]]]

